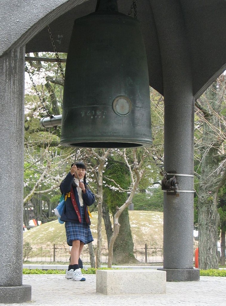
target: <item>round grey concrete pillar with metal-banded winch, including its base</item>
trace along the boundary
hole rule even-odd
[[[165,101],[164,170],[193,175],[194,98],[184,18],[177,0],[154,2]],[[159,14],[164,22],[159,22]],[[188,192],[180,192],[179,197],[164,192],[163,270],[167,281],[199,280],[199,270],[193,268],[194,193],[189,192],[194,190],[194,179],[176,178],[179,190]]]

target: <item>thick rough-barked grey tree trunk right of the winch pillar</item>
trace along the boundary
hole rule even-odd
[[[218,269],[217,228],[220,218],[217,212],[217,195],[225,181],[224,166],[219,167],[218,156],[224,136],[220,133],[218,114],[221,111],[221,91],[224,89],[224,84],[224,77],[221,82],[212,84],[203,99],[204,106],[200,108],[204,116],[198,201],[199,268],[204,270]]]

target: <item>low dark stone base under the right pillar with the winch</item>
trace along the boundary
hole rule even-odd
[[[166,271],[166,282],[191,282],[199,281],[199,269],[165,269],[158,268],[157,270]]]

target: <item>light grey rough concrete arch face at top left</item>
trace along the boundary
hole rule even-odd
[[[0,10],[0,56],[24,46],[54,19],[87,0],[5,0]]]

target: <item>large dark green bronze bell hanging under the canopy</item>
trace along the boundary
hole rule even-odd
[[[148,66],[137,19],[117,1],[75,20],[67,54],[60,143],[126,148],[152,144]]]

